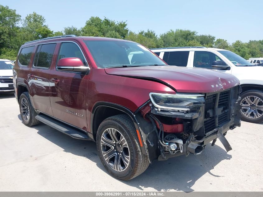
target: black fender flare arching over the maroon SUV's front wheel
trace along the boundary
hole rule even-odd
[[[135,129],[139,131],[139,132],[137,132],[137,136],[139,135],[138,138],[142,139],[142,145],[140,145],[141,148],[142,148],[142,152],[143,152],[143,154],[148,155],[147,145],[145,143],[146,139],[143,139],[142,130],[139,127],[139,122],[136,119],[135,115],[132,113],[132,111],[129,110],[128,108],[124,107],[124,106],[121,106],[121,105],[118,105],[118,104],[115,104],[115,103],[111,103],[111,102],[105,102],[105,101],[97,102],[92,108],[92,113],[91,113],[91,118],[90,118],[91,133],[95,134],[95,132],[96,132],[96,131],[94,131],[94,124],[93,124],[93,122],[94,122],[94,115],[96,113],[96,110],[99,107],[102,107],[102,106],[114,108],[114,109],[117,109],[117,110],[120,110],[120,111],[124,112],[126,115],[129,115],[129,117],[131,118],[131,120],[134,123]]]

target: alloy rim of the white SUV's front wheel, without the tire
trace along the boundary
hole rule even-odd
[[[263,115],[263,101],[257,96],[247,96],[241,101],[242,114],[248,118],[259,118]]]

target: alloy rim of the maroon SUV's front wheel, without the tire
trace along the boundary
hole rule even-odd
[[[130,150],[124,136],[114,128],[106,129],[101,136],[101,151],[105,161],[115,171],[124,171],[130,163]]]

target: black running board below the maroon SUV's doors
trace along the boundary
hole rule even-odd
[[[55,120],[54,118],[51,118],[44,114],[39,114],[35,117],[40,122],[43,122],[44,124],[69,135],[72,138],[75,139],[83,139],[83,140],[91,140],[87,134],[84,134],[78,129],[75,129],[63,122],[60,122],[59,120]]]

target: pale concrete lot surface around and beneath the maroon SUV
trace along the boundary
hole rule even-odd
[[[44,124],[21,122],[13,93],[0,94],[0,191],[263,191],[263,124],[242,122],[200,155],[153,162],[119,181],[104,169],[94,142]]]

